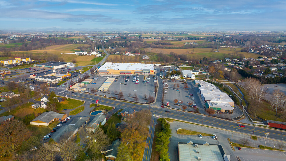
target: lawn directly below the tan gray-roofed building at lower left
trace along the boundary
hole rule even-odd
[[[27,128],[30,130],[33,136],[36,137],[44,137],[47,135],[51,130],[57,126],[59,121],[53,121],[49,126],[38,126],[38,125],[28,125]]]

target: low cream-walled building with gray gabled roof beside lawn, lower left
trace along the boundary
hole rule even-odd
[[[44,112],[32,121],[30,121],[31,125],[43,125],[43,126],[48,126],[51,124],[53,121],[62,121],[67,117],[67,114],[59,114],[57,112],[49,111],[49,112]]]

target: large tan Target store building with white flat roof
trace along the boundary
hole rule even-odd
[[[107,62],[97,70],[102,75],[155,75],[153,64]]]

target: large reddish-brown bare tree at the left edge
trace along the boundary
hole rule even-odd
[[[0,145],[1,149],[11,155],[21,146],[25,139],[30,137],[30,132],[22,121],[8,121],[0,126]]]

